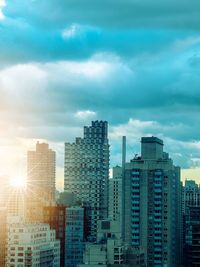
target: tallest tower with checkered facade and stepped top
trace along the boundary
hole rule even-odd
[[[84,137],[65,143],[65,192],[86,206],[88,240],[96,239],[97,221],[108,215],[109,143],[106,121],[84,127]]]

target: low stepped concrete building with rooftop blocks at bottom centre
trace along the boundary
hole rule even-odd
[[[144,253],[124,245],[121,239],[120,222],[98,222],[97,242],[88,243],[84,263],[79,267],[146,267]]]

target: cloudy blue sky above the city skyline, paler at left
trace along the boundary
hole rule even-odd
[[[0,176],[26,173],[37,140],[57,153],[109,122],[111,167],[157,136],[200,181],[200,1],[0,0]]]

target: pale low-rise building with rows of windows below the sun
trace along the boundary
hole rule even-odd
[[[7,267],[59,267],[60,242],[47,224],[27,224],[11,218]]]

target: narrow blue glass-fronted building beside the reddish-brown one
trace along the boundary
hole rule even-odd
[[[66,208],[65,267],[76,267],[83,262],[84,208]]]

